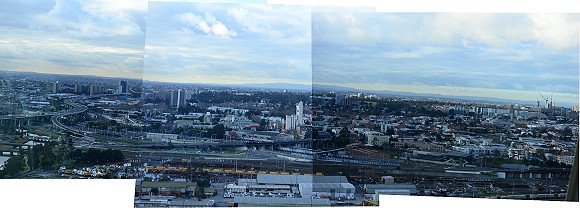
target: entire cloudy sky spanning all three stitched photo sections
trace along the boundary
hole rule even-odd
[[[0,70],[578,102],[577,14],[242,2],[0,0]]]

